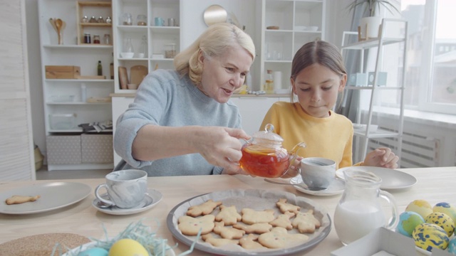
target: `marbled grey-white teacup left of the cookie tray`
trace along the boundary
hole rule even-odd
[[[105,176],[106,183],[95,188],[95,196],[103,203],[118,208],[139,206],[147,192],[147,173],[142,170],[113,171]],[[103,198],[98,191],[106,188],[110,200]]]

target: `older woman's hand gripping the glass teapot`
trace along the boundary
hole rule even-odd
[[[223,174],[246,174],[239,166],[242,144],[239,139],[250,139],[242,129],[202,127],[197,133],[195,148],[214,166],[223,167]]]

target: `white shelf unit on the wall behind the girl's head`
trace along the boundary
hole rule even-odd
[[[282,73],[282,89],[290,86],[294,54],[305,43],[324,40],[325,15],[326,0],[262,0],[261,84],[266,70],[273,70]],[[279,29],[268,29],[269,26],[278,26]]]

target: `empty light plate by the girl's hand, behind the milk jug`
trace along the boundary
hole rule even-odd
[[[382,167],[375,167],[375,166],[348,166],[336,171],[336,176],[338,178],[345,179],[343,175],[343,171],[346,169],[361,169],[366,171],[371,171],[376,176],[379,176],[382,179],[382,183],[380,185],[381,189],[385,190],[395,190],[395,189],[403,189],[403,188],[410,188],[411,186],[415,185],[417,179],[410,175],[406,174],[403,171],[398,171],[395,169],[388,169]]]

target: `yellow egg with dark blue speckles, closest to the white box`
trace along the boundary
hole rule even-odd
[[[432,248],[445,250],[450,242],[445,230],[431,223],[418,225],[413,230],[412,236],[413,240],[415,240],[415,245],[428,252],[432,252]]]

